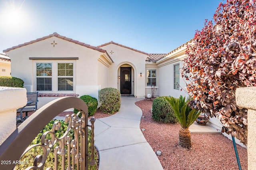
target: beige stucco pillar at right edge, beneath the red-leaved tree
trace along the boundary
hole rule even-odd
[[[236,89],[236,104],[248,109],[248,170],[256,167],[256,87]]]

